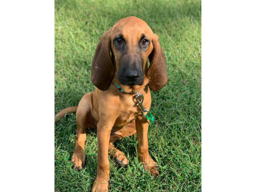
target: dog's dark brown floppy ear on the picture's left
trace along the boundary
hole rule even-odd
[[[105,91],[109,88],[115,73],[112,58],[110,56],[110,29],[100,38],[92,60],[91,80],[100,90]]]

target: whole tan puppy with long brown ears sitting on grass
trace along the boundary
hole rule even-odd
[[[97,87],[94,92],[85,94],[78,107],[67,108],[56,115],[58,119],[66,113],[76,112],[74,169],[80,170],[85,164],[84,144],[89,127],[97,128],[98,137],[98,167],[93,192],[108,191],[108,154],[114,156],[120,166],[128,164],[128,159],[114,143],[136,132],[139,160],[145,170],[159,174],[156,162],[148,153],[148,120],[136,106],[135,98],[138,92],[143,94],[143,105],[149,109],[150,89],[160,90],[167,83],[166,59],[158,36],[139,18],[119,20],[101,37],[91,72],[92,82]]]

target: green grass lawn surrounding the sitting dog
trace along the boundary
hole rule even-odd
[[[112,192],[201,191],[201,2],[200,0],[55,0],[55,113],[78,105],[94,90],[90,66],[101,35],[127,16],[145,20],[160,38],[168,84],[152,92],[155,123],[151,156],[160,165],[154,178],[138,161],[136,136],[116,142],[129,159],[118,168],[110,159]],[[55,126],[55,190],[89,191],[96,177],[97,136],[88,130],[86,166],[72,170],[75,114]]]

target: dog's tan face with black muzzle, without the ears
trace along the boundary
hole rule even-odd
[[[133,20],[113,26],[111,50],[117,78],[123,85],[142,85],[148,55],[152,52],[152,34],[148,25]]]

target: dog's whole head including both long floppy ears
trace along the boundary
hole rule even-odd
[[[102,35],[91,70],[92,82],[100,90],[109,88],[115,74],[120,84],[131,87],[142,85],[146,76],[153,91],[167,83],[166,59],[158,36],[133,16],[119,20]]]

